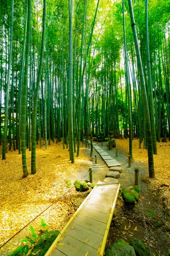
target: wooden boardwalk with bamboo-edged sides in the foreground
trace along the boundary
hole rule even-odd
[[[45,256],[102,256],[120,184],[99,182]]]

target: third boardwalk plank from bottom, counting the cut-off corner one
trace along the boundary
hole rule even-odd
[[[94,249],[99,249],[99,244],[102,242],[103,236],[95,233],[94,231],[88,230],[87,228],[81,227],[75,223],[72,223],[66,232],[69,236],[87,244]]]

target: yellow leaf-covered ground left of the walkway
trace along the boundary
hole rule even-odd
[[[88,148],[80,148],[80,156],[76,158],[75,164],[71,164],[69,151],[63,150],[62,143],[51,142],[48,149],[37,145],[37,173],[31,175],[31,151],[27,149],[29,175],[24,179],[22,178],[22,157],[18,151],[8,151],[6,160],[0,159],[0,244],[68,191],[66,187],[68,180],[73,184],[76,179],[87,175],[88,166],[91,164],[88,151]],[[2,146],[0,152],[2,152]],[[35,230],[40,230],[41,219],[43,219],[50,230],[62,230],[70,215],[75,212],[86,196],[72,189],[33,221],[31,226]],[[30,231],[27,227],[0,249],[0,255],[8,255],[8,252],[29,235]]]

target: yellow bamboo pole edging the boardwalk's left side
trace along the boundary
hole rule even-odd
[[[57,243],[60,241],[60,239],[62,239],[63,234],[65,233],[65,231],[67,230],[68,226],[71,224],[71,222],[74,220],[74,218],[76,218],[77,213],[79,212],[79,210],[83,207],[83,205],[86,203],[86,201],[88,200],[88,198],[91,196],[91,194],[94,193],[95,189],[97,186],[94,187],[94,189],[90,192],[90,194],[85,198],[85,200],[82,202],[82,204],[79,206],[79,208],[77,209],[76,212],[74,212],[74,215],[69,219],[69,221],[67,222],[67,224],[65,225],[65,227],[62,229],[62,231],[59,233],[59,235],[57,236],[57,238],[54,240],[54,242],[51,244],[50,248],[48,249],[48,251],[45,253],[44,256],[50,256],[51,253],[54,251],[54,249],[57,247]],[[114,203],[113,203],[114,204]]]

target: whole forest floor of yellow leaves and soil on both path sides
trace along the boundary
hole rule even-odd
[[[158,155],[154,156],[156,179],[148,178],[147,150],[139,149],[138,139],[133,140],[131,168],[128,168],[127,163],[128,140],[116,140],[116,145],[118,157],[115,157],[114,148],[108,153],[121,163],[121,188],[134,184],[134,166],[138,166],[151,250],[155,256],[167,256],[170,249],[170,141],[157,143]],[[101,143],[99,146],[107,151],[107,142],[103,143],[103,147]],[[22,178],[22,157],[17,151],[8,151],[6,160],[0,160],[0,244],[71,189],[72,186],[67,188],[68,180],[73,184],[76,179],[88,179],[89,166],[93,166],[95,182],[105,178],[108,167],[99,154],[98,164],[94,164],[94,154],[97,154],[95,149],[91,159],[90,150],[81,145],[80,156],[75,157],[75,164],[71,164],[68,150],[62,148],[62,143],[51,142],[48,150],[37,145],[37,173],[29,174],[25,179]],[[27,163],[30,173],[31,152],[28,150]],[[31,226],[38,233],[43,219],[50,230],[62,230],[89,192],[77,192],[73,186],[73,189],[36,218]],[[127,207],[119,195],[107,247],[121,238],[128,242],[133,236],[147,243],[141,201],[134,207]],[[26,237],[30,237],[29,227],[2,247],[0,255],[7,256]]]

